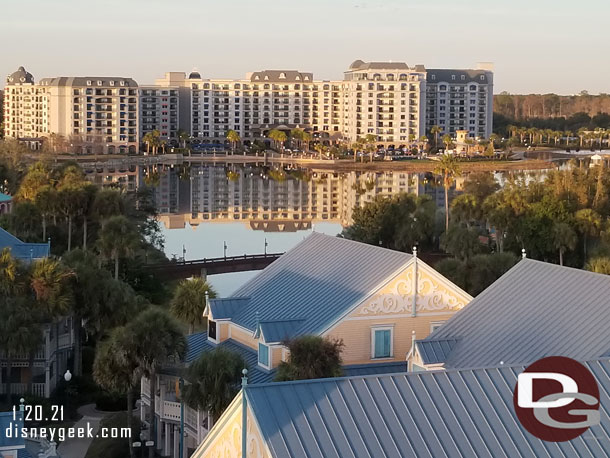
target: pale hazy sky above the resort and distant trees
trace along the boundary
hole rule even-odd
[[[495,63],[496,92],[610,92],[608,0],[3,1],[0,75],[270,68],[341,78],[355,59]]]

